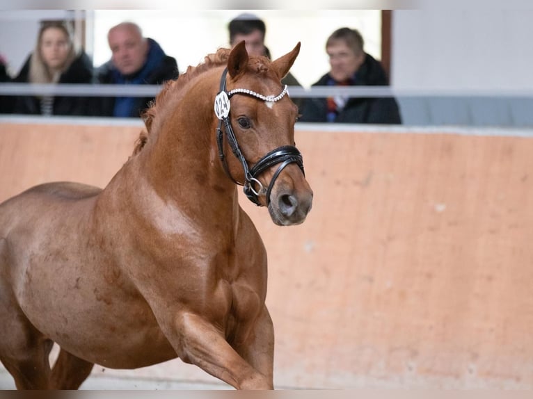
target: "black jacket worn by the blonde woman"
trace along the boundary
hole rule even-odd
[[[31,56],[26,60],[22,70],[13,81],[20,83],[29,82]],[[92,83],[93,63],[85,53],[79,54],[72,61],[70,67],[61,74],[58,83]],[[40,114],[40,98],[34,96],[13,97],[13,113]],[[56,96],[52,107],[53,115],[92,115],[92,97]]]

